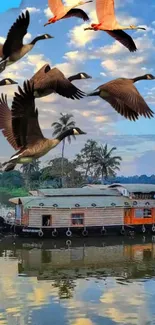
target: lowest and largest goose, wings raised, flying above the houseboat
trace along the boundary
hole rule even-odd
[[[11,111],[7,96],[0,99],[0,129],[8,142],[18,150],[8,162],[5,171],[11,171],[16,164],[30,163],[33,159],[46,155],[69,135],[85,134],[78,127],[71,128],[54,139],[43,136],[38,121],[38,110],[35,107],[34,88],[29,81],[24,82],[23,89],[18,87]]]

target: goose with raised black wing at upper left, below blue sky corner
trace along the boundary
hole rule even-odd
[[[36,42],[44,39],[53,38],[49,34],[37,36],[29,44],[23,45],[23,38],[27,34],[30,23],[30,14],[26,10],[16,20],[10,28],[5,43],[0,45],[0,72],[5,70],[6,66],[20,60],[26,53],[31,51]]]

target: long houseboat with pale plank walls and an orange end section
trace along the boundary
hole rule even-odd
[[[155,185],[111,184],[39,189],[13,198],[20,236],[155,233]]]

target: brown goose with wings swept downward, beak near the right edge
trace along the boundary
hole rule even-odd
[[[151,118],[154,112],[148,107],[134,86],[135,82],[145,79],[152,80],[155,77],[151,74],[146,74],[132,79],[118,78],[99,86],[88,96],[100,96],[119,114],[129,120],[138,120],[139,115]]]

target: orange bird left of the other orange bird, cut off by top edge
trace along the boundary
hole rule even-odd
[[[48,6],[51,9],[54,17],[49,19],[48,22],[44,25],[55,23],[56,21],[64,18],[77,17],[81,18],[84,21],[89,20],[87,14],[81,9],[75,9],[78,6],[84,5],[85,3],[93,2],[92,0],[88,1],[79,1],[77,4],[72,6],[64,6],[62,0],[48,0]]]

